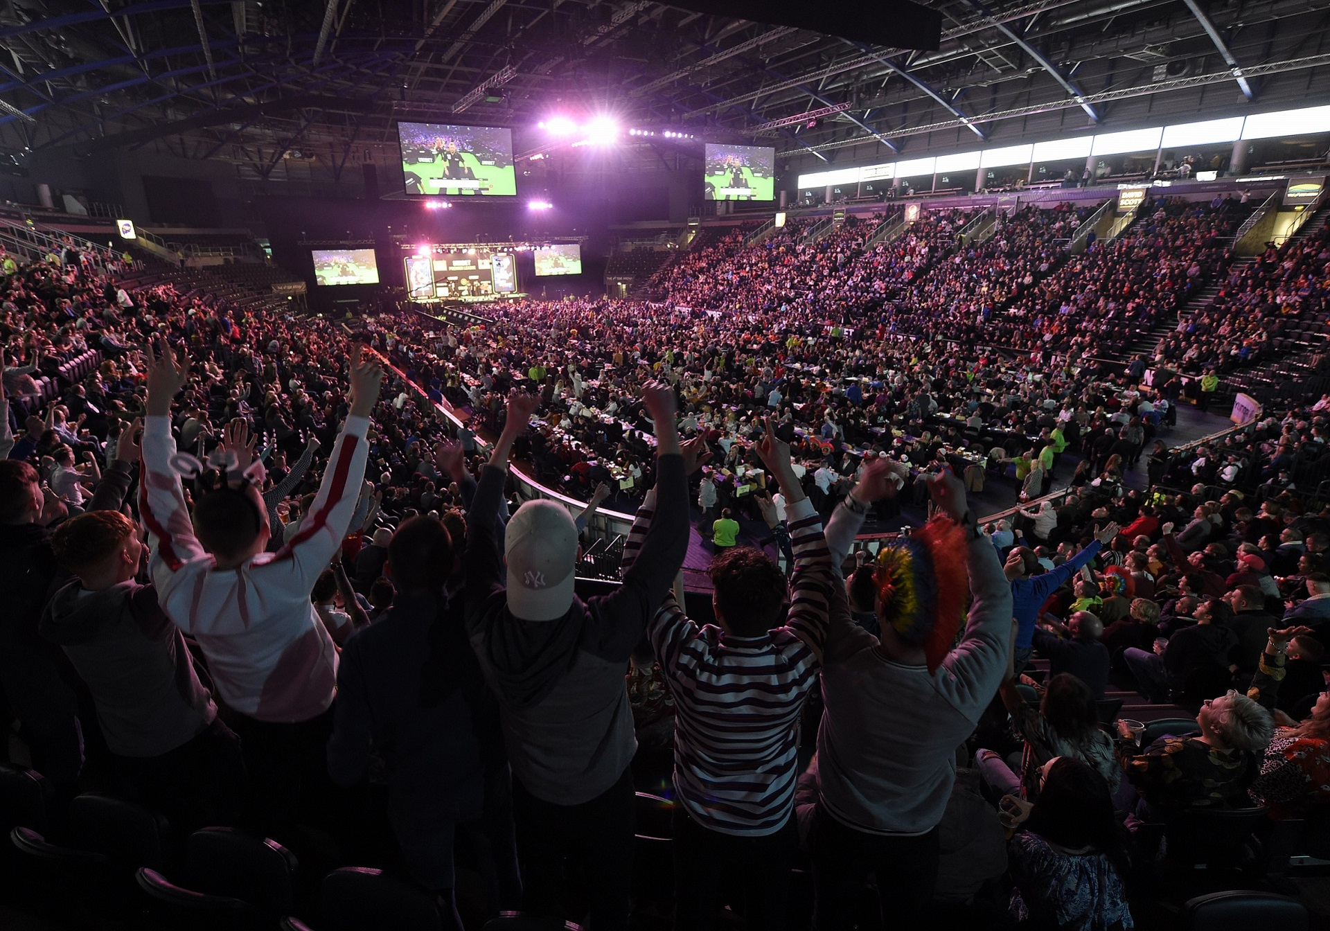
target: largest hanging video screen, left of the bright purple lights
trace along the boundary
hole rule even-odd
[[[407,194],[513,197],[512,132],[495,126],[399,122]]]

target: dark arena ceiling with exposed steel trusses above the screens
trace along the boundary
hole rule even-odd
[[[523,128],[572,110],[765,138],[785,164],[818,165],[939,136],[979,148],[1040,114],[1116,126],[1194,110],[1202,92],[1286,104],[1330,80],[1330,0],[927,0],[935,49],[883,44],[894,21],[930,44],[903,25],[911,4],[823,0],[835,36],[774,3],[686,5],[3,0],[0,152],[21,164],[150,146],[263,178],[291,158],[338,177],[395,140],[398,118],[516,126],[521,150]]]

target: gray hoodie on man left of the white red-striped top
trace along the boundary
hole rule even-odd
[[[52,596],[39,630],[64,648],[88,684],[106,746],[117,755],[161,755],[217,717],[185,636],[157,605],[152,585],[125,581],[88,592],[70,583]]]

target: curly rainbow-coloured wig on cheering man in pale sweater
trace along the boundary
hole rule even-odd
[[[930,673],[942,665],[960,629],[970,588],[967,551],[964,529],[934,517],[878,553],[878,620],[904,642],[923,648]]]

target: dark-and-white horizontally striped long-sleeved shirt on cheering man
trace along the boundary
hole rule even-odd
[[[625,565],[650,523],[638,511]],[[701,826],[737,837],[774,834],[790,818],[799,710],[817,686],[835,576],[807,499],[787,505],[794,541],[790,613],[761,637],[698,626],[666,597],[646,628],[676,704],[674,790]]]

